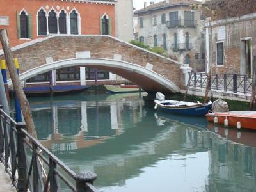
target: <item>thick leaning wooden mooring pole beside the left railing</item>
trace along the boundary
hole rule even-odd
[[[13,61],[13,56],[12,56],[12,52],[10,49],[10,43],[8,40],[8,35],[7,35],[6,29],[0,30],[0,40],[1,40],[3,50],[4,50],[6,65],[8,67],[8,70],[10,72],[10,77],[12,79],[13,88],[15,90],[15,93],[17,94],[17,97],[18,97],[20,105],[21,105],[22,113],[24,115],[24,120],[26,122],[27,131],[34,138],[37,138],[31,109],[29,107],[28,99],[22,89],[22,85],[20,83],[19,76],[18,76],[17,70],[15,68],[15,64]]]

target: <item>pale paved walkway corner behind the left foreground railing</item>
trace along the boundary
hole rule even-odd
[[[3,163],[0,163],[0,192],[14,192],[16,191],[15,187],[12,185],[11,179],[4,171]]]

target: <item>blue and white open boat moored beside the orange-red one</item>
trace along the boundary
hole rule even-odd
[[[205,116],[212,107],[212,102],[185,102],[177,100],[155,100],[155,109],[188,116]]]

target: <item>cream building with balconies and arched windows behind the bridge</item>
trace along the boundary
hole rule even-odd
[[[198,1],[166,0],[145,3],[138,15],[138,40],[152,47],[163,47],[180,63],[189,64],[194,71],[205,70],[204,18],[192,10]],[[135,31],[136,32],[136,31]]]

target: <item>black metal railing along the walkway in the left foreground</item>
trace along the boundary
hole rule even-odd
[[[15,122],[0,106],[0,160],[17,191],[97,191],[97,175],[76,174]],[[69,179],[67,179],[69,178]]]

